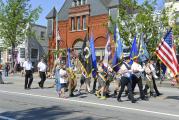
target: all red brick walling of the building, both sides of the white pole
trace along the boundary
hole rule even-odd
[[[93,31],[93,36],[95,39],[95,47],[104,48],[106,45],[106,33],[107,23],[108,23],[108,15],[99,15],[99,16],[86,16],[87,26],[89,26],[89,35],[91,31]],[[54,55],[52,49],[56,49],[56,22],[54,19],[54,31],[52,39],[49,40],[49,60],[48,64],[49,67],[53,67],[54,63]],[[77,19],[75,19],[75,28],[77,28]],[[60,48],[72,48],[74,43],[77,39],[84,40],[85,35],[87,34],[88,30],[81,30],[81,31],[71,31],[71,18],[67,21],[59,21],[58,22],[58,29],[61,38]],[[81,16],[81,29],[82,29],[82,16]]]

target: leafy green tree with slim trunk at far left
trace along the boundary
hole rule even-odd
[[[0,37],[4,47],[12,49],[12,65],[14,66],[14,50],[29,35],[28,24],[39,18],[41,7],[32,9],[30,0],[0,0]]]

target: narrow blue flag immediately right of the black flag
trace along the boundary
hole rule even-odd
[[[96,52],[95,52],[95,46],[94,46],[94,37],[91,33],[90,36],[90,50],[91,50],[91,57],[92,57],[92,75],[95,78],[97,75],[97,61],[96,61]]]

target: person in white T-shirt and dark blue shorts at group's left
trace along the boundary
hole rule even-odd
[[[59,70],[59,75],[60,75],[60,91],[58,91],[59,93],[59,97],[62,97],[62,98],[66,98],[65,96],[65,89],[67,88],[67,72],[66,72],[66,69],[65,69],[65,65],[62,64],[61,65],[61,68]]]

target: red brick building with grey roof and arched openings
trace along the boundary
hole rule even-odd
[[[53,8],[46,17],[50,67],[54,62],[54,50],[74,48],[79,53],[87,33],[89,36],[93,33],[97,58],[102,59],[109,15],[117,16],[118,4],[119,0],[66,0],[58,13]]]

